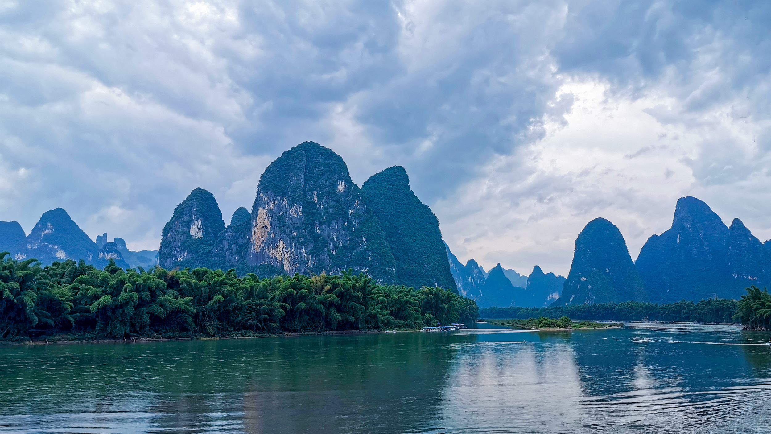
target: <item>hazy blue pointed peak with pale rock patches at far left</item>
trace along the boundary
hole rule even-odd
[[[32,228],[15,259],[38,259],[47,265],[54,261],[80,259],[90,264],[96,260],[99,248],[62,208],[46,211]]]

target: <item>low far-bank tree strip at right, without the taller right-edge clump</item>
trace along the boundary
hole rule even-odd
[[[604,304],[567,304],[548,308],[487,308],[480,309],[480,318],[560,318],[590,321],[686,321],[733,322],[738,302],[731,298],[711,298],[698,303],[678,301],[653,304],[641,301]]]

